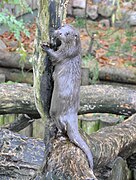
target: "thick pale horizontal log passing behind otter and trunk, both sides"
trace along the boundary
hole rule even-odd
[[[37,116],[33,88],[26,84],[0,84],[0,114]],[[81,86],[79,114],[136,113],[136,90],[112,85]]]

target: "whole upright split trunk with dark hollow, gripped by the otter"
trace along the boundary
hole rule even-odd
[[[50,59],[42,52],[40,44],[51,42],[54,29],[61,26],[66,15],[68,0],[40,0],[38,1],[37,34],[35,40],[35,53],[33,56],[33,74],[35,103],[45,121],[45,152],[46,157],[51,148],[51,139],[55,136],[56,126],[50,118],[49,110],[53,90],[53,66]],[[46,164],[46,163],[43,163]]]

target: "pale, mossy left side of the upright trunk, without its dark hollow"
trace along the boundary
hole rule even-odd
[[[38,17],[37,17],[37,32],[35,39],[35,53],[33,56],[33,74],[34,74],[34,94],[36,107],[43,120],[46,119],[46,114],[44,112],[44,104],[41,96],[41,79],[44,76],[45,66],[45,53],[42,52],[40,44],[45,41],[49,41],[49,12],[48,0],[38,1]]]

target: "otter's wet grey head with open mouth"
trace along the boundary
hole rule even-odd
[[[53,33],[56,50],[66,46],[79,46],[80,37],[78,31],[71,25],[64,25]]]

